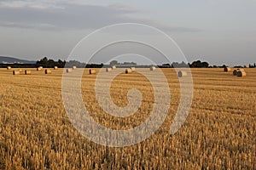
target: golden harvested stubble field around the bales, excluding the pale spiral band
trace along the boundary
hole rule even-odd
[[[61,76],[79,69],[70,73],[51,69],[50,75],[29,70],[32,75],[0,69],[0,168],[256,169],[256,69],[245,69],[246,77],[234,77],[223,69],[192,69],[192,107],[183,127],[173,135],[169,130],[180,86],[177,73],[163,69],[172,94],[166,121],[150,138],[121,148],[91,142],[69,121],[61,99]],[[116,105],[128,104],[131,88],[143,94],[139,111],[119,118],[97,104],[97,75],[90,75],[89,70],[84,70],[82,94],[96,122],[129,129],[147,119],[154,89],[146,77],[124,70],[114,78],[111,97]]]

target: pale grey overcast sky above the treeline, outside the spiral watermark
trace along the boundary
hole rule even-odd
[[[67,59],[91,31],[117,23],[154,26],[189,62],[256,62],[256,0],[0,1],[0,55]]]

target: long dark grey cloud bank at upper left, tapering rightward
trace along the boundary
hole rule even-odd
[[[117,23],[134,22],[156,26],[163,31],[200,31],[194,28],[162,26],[147,18],[139,18],[140,11],[125,5],[99,5],[78,1],[43,1],[44,3],[0,3],[0,26],[80,30],[96,29]],[[55,7],[55,8],[53,8]],[[132,16],[132,17],[131,17]]]

